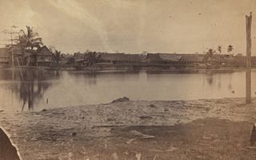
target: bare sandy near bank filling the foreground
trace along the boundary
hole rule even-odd
[[[254,159],[256,99],[128,101],[0,112],[22,159]]]

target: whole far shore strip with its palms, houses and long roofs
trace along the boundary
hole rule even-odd
[[[54,46],[43,46],[42,38],[33,27],[20,30],[14,44],[0,49],[0,65],[10,66],[46,66],[51,69],[72,70],[180,70],[180,69],[217,69],[243,68],[246,57],[234,53],[234,46],[226,46],[226,51],[218,45],[202,53],[149,53],[134,54],[107,53],[86,50],[72,54],[63,53]],[[256,67],[256,57],[251,58]]]

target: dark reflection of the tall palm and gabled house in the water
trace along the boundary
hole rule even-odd
[[[0,75],[5,80],[18,82],[11,90],[22,100],[22,110],[26,104],[28,110],[33,110],[34,104],[43,98],[52,85],[50,80],[60,77],[58,71],[48,70],[5,70]]]

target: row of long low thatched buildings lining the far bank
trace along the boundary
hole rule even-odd
[[[164,66],[245,66],[245,56],[233,54],[169,54],[169,53],[99,53],[94,52],[95,62],[104,64],[138,64],[138,65],[164,65]],[[75,62],[90,62],[86,54],[74,54]],[[252,66],[256,66],[252,57]],[[93,63],[93,64],[94,64]]]

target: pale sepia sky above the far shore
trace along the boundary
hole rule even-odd
[[[218,45],[226,52],[232,45],[245,54],[250,11],[256,55],[256,0],[0,0],[0,31],[33,26],[46,46],[65,53],[202,53]]]

